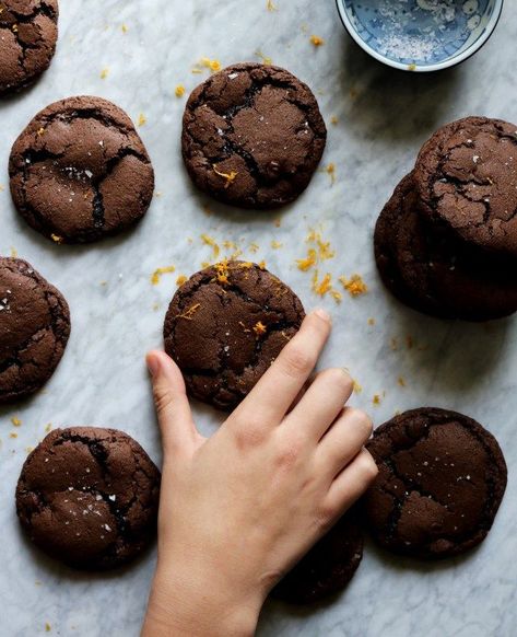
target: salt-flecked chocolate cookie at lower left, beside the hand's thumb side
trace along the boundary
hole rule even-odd
[[[124,431],[57,429],[30,454],[16,511],[31,540],[74,568],[134,558],[156,530],[160,472]]]

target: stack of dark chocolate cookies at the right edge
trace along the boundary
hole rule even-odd
[[[517,126],[467,117],[437,130],[375,229],[383,281],[433,316],[517,311]]]

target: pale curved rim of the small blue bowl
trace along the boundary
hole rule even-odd
[[[495,0],[494,12],[492,13],[492,18],[481,37],[479,37],[462,54],[454,56],[443,62],[435,62],[434,65],[406,65],[402,62],[397,62],[396,60],[391,60],[388,57],[380,55],[374,48],[372,48],[353,27],[352,21],[350,20],[349,14],[344,9],[344,0],[336,0],[336,4],[338,7],[338,13],[339,16],[341,18],[341,22],[343,23],[343,26],[346,30],[348,34],[369,56],[375,58],[377,61],[383,62],[384,65],[391,67],[393,69],[398,69],[400,71],[408,71],[412,73],[428,73],[432,71],[440,71],[444,69],[455,67],[456,65],[461,63],[462,61],[469,59],[471,56],[478,53],[480,48],[482,48],[486,44],[486,42],[494,33],[495,27],[497,26],[501,19],[501,14],[503,12],[504,0]]]

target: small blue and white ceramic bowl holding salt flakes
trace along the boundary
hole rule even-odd
[[[337,0],[341,20],[372,57],[404,71],[462,62],[492,35],[504,0]]]

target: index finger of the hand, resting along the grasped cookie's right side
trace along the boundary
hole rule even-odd
[[[330,329],[330,316],[325,310],[308,314],[297,334],[235,409],[232,419],[243,418],[246,422],[259,414],[265,427],[278,425],[316,367]]]

